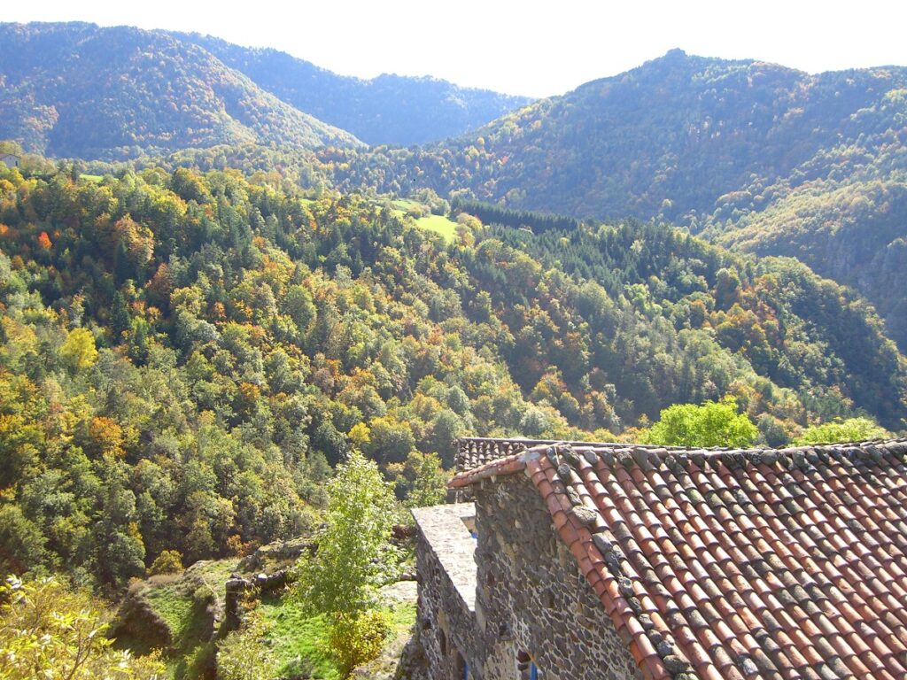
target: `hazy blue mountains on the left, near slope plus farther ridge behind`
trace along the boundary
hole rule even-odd
[[[79,23],[0,24],[0,85],[0,140],[83,159],[249,142],[356,147],[356,137],[409,145],[530,101],[429,77],[340,76],[199,34]]]

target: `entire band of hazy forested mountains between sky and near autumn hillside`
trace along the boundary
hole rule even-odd
[[[907,350],[902,67],[810,75],[672,50],[528,102],[199,34],[3,24],[0,78],[0,138],[26,151],[221,170],[255,155],[307,187],[665,220],[859,290]]]

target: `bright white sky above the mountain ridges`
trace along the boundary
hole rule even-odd
[[[197,31],[273,47],[336,73],[433,75],[533,97],[569,92],[679,47],[819,73],[907,65],[903,0],[42,0],[0,21]]]

